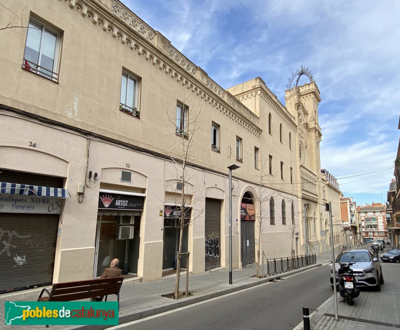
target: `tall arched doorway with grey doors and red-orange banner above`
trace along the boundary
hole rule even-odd
[[[255,207],[249,192],[245,192],[240,203],[241,264],[255,261],[254,240]]]

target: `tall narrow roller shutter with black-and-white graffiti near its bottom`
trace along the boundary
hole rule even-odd
[[[205,270],[219,267],[221,234],[221,201],[205,198]]]

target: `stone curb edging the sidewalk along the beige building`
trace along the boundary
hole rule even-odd
[[[147,309],[147,310],[142,310],[139,312],[134,312],[128,315],[124,315],[122,317],[119,317],[119,325],[120,324],[124,324],[124,323],[128,323],[131,321],[135,321],[141,318],[145,318],[145,317],[149,317],[149,316],[154,316],[156,314],[160,314],[166,311],[170,311],[173,309],[177,309],[177,308],[181,308],[181,307],[185,307],[197,302],[202,302],[205,300],[209,300],[212,298],[216,298],[216,297],[220,297],[222,295],[225,294],[229,294],[232,292],[236,292],[236,291],[240,291],[240,290],[244,290],[246,288],[250,288],[250,287],[254,287],[257,285],[261,285],[267,282],[271,282],[275,279],[279,279],[279,278],[283,278],[283,277],[287,277],[289,275],[293,275],[299,272],[303,272],[305,270],[308,269],[312,269],[318,266],[321,266],[322,263],[318,262],[309,266],[304,266],[298,269],[294,269],[294,270],[290,270],[287,272],[283,272],[283,273],[279,273],[279,274],[275,274],[275,275],[270,275],[267,276],[265,278],[259,279],[258,281],[252,282],[252,283],[246,283],[246,284],[241,284],[241,285],[237,285],[237,286],[233,286],[231,288],[227,288],[227,289],[221,289],[217,292],[212,292],[212,293],[205,293],[202,295],[192,295],[190,297],[184,298],[184,299],[179,299],[179,300],[173,300],[170,299],[171,302],[168,304],[165,304],[163,306],[159,306],[159,307],[155,307],[155,308],[151,308],[151,309]],[[108,325],[84,325],[84,326],[80,326],[80,327],[76,327],[74,328],[74,330],[102,330],[102,329],[106,329],[108,327]]]

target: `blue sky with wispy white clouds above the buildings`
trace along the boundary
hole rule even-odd
[[[400,1],[122,1],[223,88],[260,76],[284,104],[287,79],[308,67],[322,98],[321,168],[358,205],[386,201],[400,135]]]

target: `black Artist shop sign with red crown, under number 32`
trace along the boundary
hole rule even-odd
[[[143,210],[143,197],[100,192],[98,208]]]

